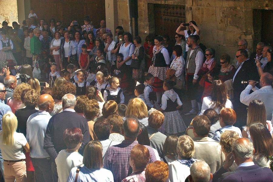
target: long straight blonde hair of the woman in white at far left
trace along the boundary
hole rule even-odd
[[[16,131],[18,125],[17,117],[12,112],[7,112],[2,118],[2,130],[4,145],[13,145],[13,133]]]

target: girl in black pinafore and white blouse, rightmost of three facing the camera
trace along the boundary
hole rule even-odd
[[[121,90],[120,81],[117,77],[108,76],[107,80],[109,82],[109,87],[104,90],[103,99],[106,100],[114,100],[117,104],[124,103],[124,95]]]

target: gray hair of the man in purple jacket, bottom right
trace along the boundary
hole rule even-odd
[[[232,143],[232,150],[241,159],[247,160],[253,157],[253,143],[246,139],[247,142],[238,142],[235,140]]]

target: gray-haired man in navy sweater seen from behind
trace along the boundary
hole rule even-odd
[[[73,94],[66,94],[62,97],[62,112],[55,114],[49,120],[45,132],[44,149],[52,159],[51,169],[53,182],[58,181],[57,168],[55,158],[59,151],[66,149],[63,142],[63,132],[67,128],[80,128],[83,132],[83,142],[79,148],[79,153],[83,155],[86,144],[90,141],[90,134],[85,117],[76,114],[74,107],[76,105],[76,97]]]

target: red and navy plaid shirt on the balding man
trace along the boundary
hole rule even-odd
[[[123,140],[122,143],[108,148],[104,157],[103,168],[112,171],[115,182],[120,182],[128,176],[129,158],[132,148],[138,141]],[[156,161],[153,149],[145,145],[150,152],[149,163]]]

